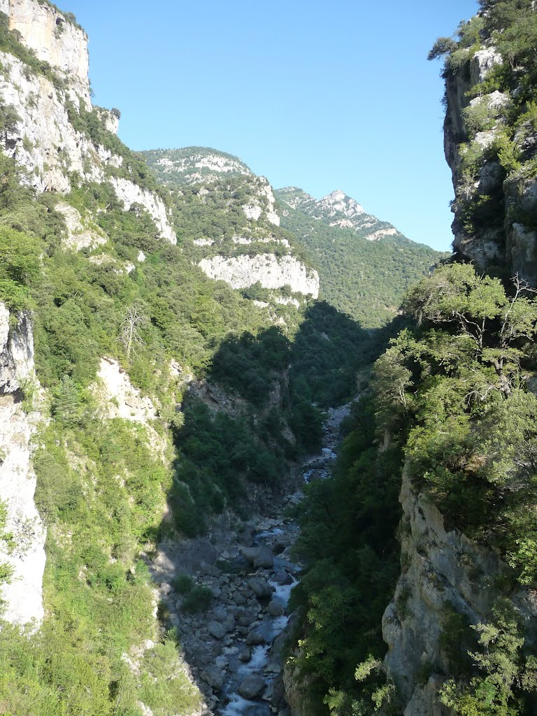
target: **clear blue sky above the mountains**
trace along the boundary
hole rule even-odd
[[[95,102],[132,149],[216,147],[274,187],[342,189],[447,249],[435,38],[475,0],[57,0],[89,33]]]

